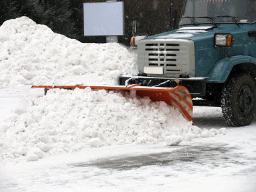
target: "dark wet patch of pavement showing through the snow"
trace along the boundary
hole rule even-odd
[[[217,145],[217,146],[216,146]],[[95,166],[98,168],[110,168],[115,170],[128,170],[140,168],[142,166],[175,166],[176,164],[193,162],[195,164],[218,164],[238,163],[230,162],[230,159],[241,158],[239,154],[231,153],[234,148],[220,143],[207,143],[199,146],[179,146],[172,147],[176,150],[163,153],[143,154],[139,156],[122,156],[96,160],[94,162],[77,163],[71,166],[88,167]],[[243,163],[243,162],[239,162]]]

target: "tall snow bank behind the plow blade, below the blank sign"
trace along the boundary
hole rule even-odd
[[[135,54],[121,44],[81,43],[26,17],[0,27],[0,86],[83,84],[71,77],[90,73],[102,84],[117,84],[120,73],[134,67]]]

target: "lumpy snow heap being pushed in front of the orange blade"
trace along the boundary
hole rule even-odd
[[[45,155],[127,143],[169,146],[184,139],[218,134],[201,130],[165,102],[120,92],[50,90],[26,98],[0,127],[0,158],[38,160]]]

